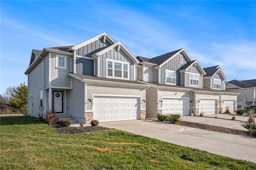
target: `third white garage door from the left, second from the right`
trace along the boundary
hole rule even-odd
[[[199,114],[204,113],[204,115],[216,114],[216,100],[211,99],[199,99]]]

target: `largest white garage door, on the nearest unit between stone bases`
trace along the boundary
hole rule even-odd
[[[94,97],[93,119],[99,122],[140,119],[140,100],[132,97]]]

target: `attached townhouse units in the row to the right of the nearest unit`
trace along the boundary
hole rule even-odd
[[[146,89],[146,115],[180,113],[218,114],[229,107],[236,110],[237,93],[224,91],[224,75],[220,66],[203,69],[184,49],[154,58],[138,56],[136,79],[150,85]]]

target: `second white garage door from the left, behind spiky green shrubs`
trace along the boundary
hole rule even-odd
[[[180,114],[188,115],[188,100],[187,99],[162,99],[163,115]]]

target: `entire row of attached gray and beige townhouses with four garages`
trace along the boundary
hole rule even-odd
[[[77,45],[32,49],[28,115],[38,107],[80,123],[155,118],[157,113],[218,114],[236,109],[220,66],[202,68],[184,49],[135,57],[106,32]]]

